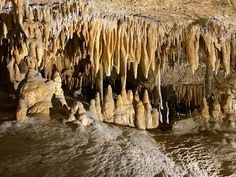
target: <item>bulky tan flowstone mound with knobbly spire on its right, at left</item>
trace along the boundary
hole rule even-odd
[[[29,69],[26,79],[19,84],[19,106],[16,119],[23,121],[27,119],[27,115],[34,114],[43,114],[43,117],[48,117],[53,95],[59,98],[62,104],[66,104],[61,82],[58,80],[60,80],[59,74],[54,81],[47,81],[34,69]]]

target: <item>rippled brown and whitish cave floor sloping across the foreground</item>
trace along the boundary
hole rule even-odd
[[[175,135],[33,118],[0,125],[0,176],[236,176],[235,133]]]

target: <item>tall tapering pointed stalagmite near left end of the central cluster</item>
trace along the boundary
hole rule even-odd
[[[105,99],[104,99],[103,111],[102,111],[105,122],[108,122],[108,123],[114,122],[114,118],[113,118],[114,109],[115,109],[115,104],[112,98],[112,88],[109,85],[107,88]]]

